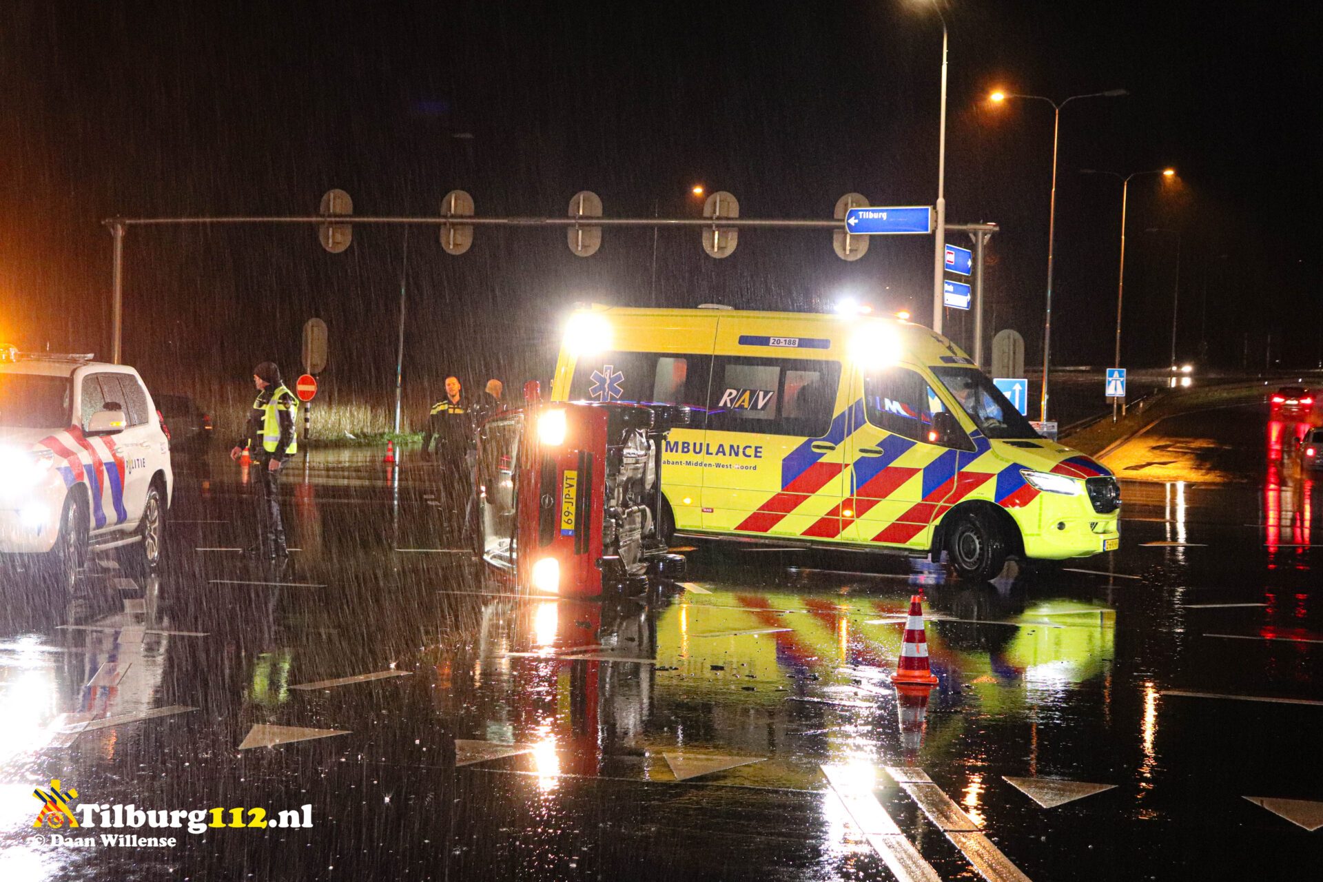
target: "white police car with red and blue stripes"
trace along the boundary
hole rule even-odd
[[[73,588],[93,549],[160,566],[169,439],[132,368],[0,346],[0,557]]]

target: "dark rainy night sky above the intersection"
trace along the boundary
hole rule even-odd
[[[697,213],[692,182],[746,217],[827,217],[840,194],[935,196],[941,26],[925,3],[11,4],[0,32],[0,337],[108,352],[114,214],[311,213],[340,186],[364,214]],[[1323,345],[1316,235],[1323,144],[1312,4],[943,4],[951,29],[947,214],[995,221],[990,328],[1039,357],[1052,108],[990,108],[994,86],[1062,98],[1056,360],[1110,358],[1121,192],[1081,167],[1176,165],[1131,184],[1127,364],[1159,364],[1181,230],[1180,350],[1238,365],[1249,340],[1312,364]],[[455,139],[468,132],[472,139]],[[647,303],[651,231],[573,257],[560,231],[479,230],[445,254],[414,229],[411,377],[550,372],[538,329],[578,299]],[[310,315],[341,380],[393,376],[401,229],[329,255],[308,229],[140,230],[127,241],[126,358],[242,378],[292,369]],[[931,243],[749,230],[726,261],[663,231],[663,303],[810,308],[840,291],[926,315]],[[1225,255],[1225,257],[1222,257]],[[1298,261],[1301,261],[1298,263]],[[1204,296],[1207,292],[1207,307]],[[1188,307],[1188,312],[1185,311]],[[1302,320],[1302,316],[1304,319]],[[1204,317],[1204,323],[1201,323]],[[967,342],[960,319],[949,327]],[[1257,354],[1254,354],[1257,353]]]

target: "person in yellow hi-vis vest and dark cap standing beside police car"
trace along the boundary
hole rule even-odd
[[[249,553],[267,559],[284,558],[290,551],[280,521],[280,467],[299,450],[295,434],[299,401],[280,382],[280,369],[274,361],[263,361],[253,370],[253,383],[258,390],[257,401],[249,411],[246,434],[230,451],[230,459],[238,459],[247,447],[257,468],[253,481],[257,543]]]

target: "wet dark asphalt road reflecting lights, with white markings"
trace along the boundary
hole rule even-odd
[[[299,550],[250,565],[239,469],[181,463],[160,578],[4,577],[0,878],[1308,878],[1323,832],[1245,799],[1323,800],[1318,491],[1273,460],[1290,431],[1262,406],[1160,423],[1115,461],[1170,480],[1127,480],[1122,550],[1065,569],[700,547],[651,604],[487,581],[429,467],[392,483],[365,452],[295,464]],[[919,587],[926,705],[888,682]],[[1109,789],[1043,808],[1007,778]],[[52,779],[312,826],[52,845]]]

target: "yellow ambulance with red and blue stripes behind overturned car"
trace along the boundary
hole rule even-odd
[[[976,581],[1121,543],[1115,476],[898,319],[581,307],[552,398],[692,409],[665,440],[664,536],[945,553]]]

